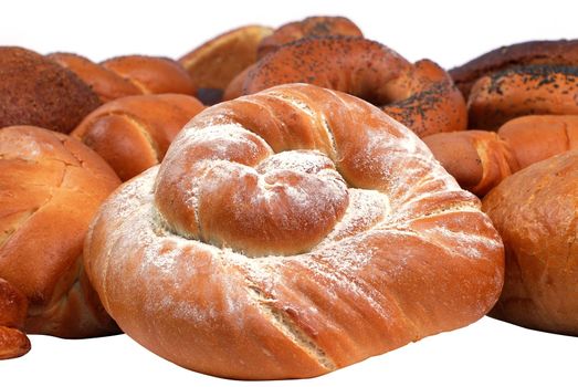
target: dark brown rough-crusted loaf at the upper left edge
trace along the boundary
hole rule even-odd
[[[0,46],[0,127],[35,125],[69,133],[99,105],[91,87],[56,62]]]

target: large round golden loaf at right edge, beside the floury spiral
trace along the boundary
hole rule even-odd
[[[504,291],[492,315],[578,335],[578,150],[512,175],[483,209],[506,249]]]

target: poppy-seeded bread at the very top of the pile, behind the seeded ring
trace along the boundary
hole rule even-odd
[[[301,21],[286,23],[272,34],[264,36],[258,46],[258,57],[277,50],[283,44],[303,38],[323,36],[364,36],[359,28],[349,19],[343,17],[311,17]]]

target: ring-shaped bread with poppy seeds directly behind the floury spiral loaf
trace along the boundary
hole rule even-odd
[[[428,60],[412,65],[362,38],[299,40],[263,57],[241,76],[225,91],[227,98],[304,82],[381,106],[420,137],[466,126],[465,102],[443,69]]]

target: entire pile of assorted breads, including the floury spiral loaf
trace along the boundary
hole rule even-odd
[[[0,48],[0,358],[125,332],[280,379],[486,313],[577,335],[577,48],[446,72],[336,17],[178,61]]]

